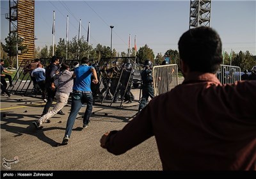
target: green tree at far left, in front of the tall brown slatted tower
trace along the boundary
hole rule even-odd
[[[1,43],[1,45],[4,52],[6,52],[10,57],[8,59],[8,63],[13,69],[13,66],[15,65],[14,61],[17,57],[17,46],[18,52],[20,52],[19,54],[24,54],[27,52],[27,45],[22,45],[23,39],[18,37],[16,32],[9,33],[8,37],[6,37],[4,40],[6,45],[4,45],[3,43]]]

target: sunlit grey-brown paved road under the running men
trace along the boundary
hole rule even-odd
[[[132,89],[138,98],[139,89]],[[67,146],[61,143],[70,104],[63,108],[65,116],[56,115],[51,123],[36,130],[32,125],[35,118],[42,113],[44,102],[40,98],[13,95],[10,99],[1,97],[1,161],[19,158],[19,162],[10,165],[3,171],[17,170],[161,170],[161,160],[156,141],[151,137],[144,143],[132,148],[123,155],[115,156],[100,147],[100,137],[109,130],[124,127],[138,111],[138,102],[123,104],[124,108],[94,105],[91,125],[82,128],[82,116],[85,107],[81,108],[74,124],[72,136]],[[108,114],[108,116],[106,116]]]

